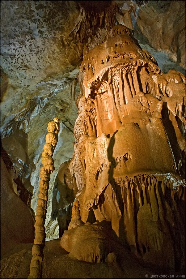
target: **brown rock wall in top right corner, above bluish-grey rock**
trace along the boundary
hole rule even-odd
[[[138,11],[137,25],[155,49],[167,50],[185,68],[185,3],[150,1]],[[153,33],[153,36],[151,35]]]

